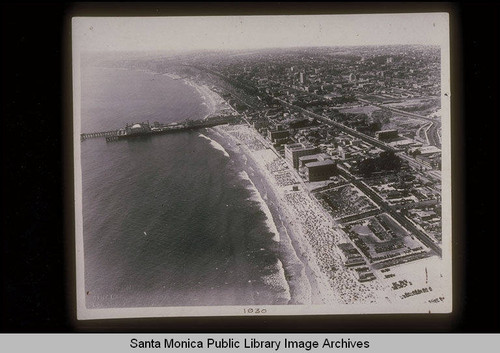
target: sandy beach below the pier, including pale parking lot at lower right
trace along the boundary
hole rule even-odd
[[[248,176],[271,210],[290,286],[290,304],[350,305],[356,312],[356,306],[392,303],[396,304],[393,310],[405,311],[402,308],[416,303],[427,302],[432,307],[444,300],[438,286],[425,289],[439,283],[440,272],[431,271],[433,258],[391,268],[396,277],[375,271],[375,280],[359,282],[356,272],[344,266],[337,247],[349,242],[347,235],[267,141],[248,125],[224,125],[210,131],[225,148],[244,158]],[[426,271],[429,276],[422,279]],[[406,284],[404,291],[394,289],[396,279]]]

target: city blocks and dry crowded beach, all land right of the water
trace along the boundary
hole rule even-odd
[[[383,287],[389,302],[433,291],[427,266],[420,285],[395,266],[442,256],[438,46],[205,52],[120,65],[189,78],[227,103],[212,118],[233,120],[216,129],[259,157],[338,301],[374,302]]]

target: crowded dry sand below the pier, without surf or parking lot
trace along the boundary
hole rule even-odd
[[[289,239],[288,248],[283,248],[302,263],[309,282],[311,296],[304,304],[373,302],[373,288],[343,271],[340,256],[334,250],[340,238],[338,232],[283,159],[246,125],[219,126],[214,130],[239,147],[256,169],[254,178],[260,179],[260,185],[256,185],[268,195],[275,221],[281,225],[281,238]],[[299,190],[292,191],[293,185]]]

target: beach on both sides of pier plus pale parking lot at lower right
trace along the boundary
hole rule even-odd
[[[123,68],[123,70],[128,71],[130,69]],[[147,74],[158,74],[152,71],[138,71]],[[210,114],[214,114],[214,112],[224,112],[224,109],[226,109],[220,102],[223,101],[221,96],[212,91],[209,85],[196,83],[196,81],[189,78],[178,77],[176,79],[170,76],[169,78],[178,80],[179,84],[190,85],[198,92],[204,101],[203,105],[205,105],[205,108],[201,109],[201,113],[204,114],[206,109],[210,111],[205,118],[209,117]],[[198,103],[198,100],[196,103]],[[432,264],[429,266],[434,268],[434,262],[431,260],[434,261],[435,259],[391,266],[391,275],[396,277],[390,277],[392,279],[389,279],[389,277],[384,278],[383,273],[375,272],[377,274],[375,281],[358,283],[353,275],[354,270],[346,268],[344,263],[339,260],[339,250],[336,245],[349,242],[346,234],[344,231],[337,231],[335,225],[325,226],[326,222],[324,220],[326,218],[333,220],[333,218],[320,205],[314,205],[314,203],[317,204],[317,200],[311,194],[307,195],[303,182],[296,181],[296,185],[299,187],[298,192],[291,192],[291,186],[283,186],[284,183],[280,178],[287,173],[294,174],[295,170],[293,168],[285,170],[286,167],[283,167],[276,172],[269,167],[268,162],[271,161],[269,156],[275,151],[269,147],[265,138],[255,129],[244,124],[207,128],[206,131],[209,132],[207,135],[214,139],[210,143],[211,147],[218,149],[226,157],[239,162],[243,158],[245,159],[245,166],[241,170],[248,171],[250,175],[249,181],[252,183],[253,188],[257,190],[258,196],[261,197],[264,204],[261,204],[260,208],[263,209],[268,219],[270,218],[270,212],[270,222],[274,223],[277,229],[278,234],[275,239],[279,244],[277,245],[277,248],[279,247],[277,258],[282,266],[282,271],[274,273],[274,277],[270,278],[270,280],[278,279],[278,277],[280,281],[281,279],[286,280],[290,294],[288,304],[333,304],[342,306],[370,303],[382,305],[388,301],[389,303],[408,306],[419,300],[417,296],[401,299],[401,294],[404,291],[399,293],[399,291],[391,289],[391,285],[397,280],[411,280],[414,283],[413,287],[411,287],[412,290],[425,286],[427,284],[427,278],[423,277],[424,273],[427,274],[427,268],[425,267],[427,264]],[[245,133],[247,137],[245,137]],[[214,137],[214,134],[217,135]],[[261,142],[260,150],[252,145],[252,143],[258,142],[249,142],[249,137]],[[207,139],[211,140],[210,138]],[[220,141],[221,144],[217,141]],[[227,147],[227,145],[230,147]],[[225,151],[223,146],[231,152],[231,155]],[[284,163],[282,157],[276,153],[275,155],[278,156],[280,162]],[[268,208],[268,212],[263,206]],[[325,216],[323,217],[321,214]],[[311,231],[310,228],[315,229]],[[274,231],[271,229],[271,232]],[[441,274],[441,270],[435,270],[434,272],[436,272],[436,278]],[[431,278],[432,274],[432,271],[429,271],[429,278]],[[432,279],[432,281],[440,283],[439,278]],[[432,287],[437,292],[438,285],[432,283]]]

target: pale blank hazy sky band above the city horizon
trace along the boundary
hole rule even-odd
[[[73,43],[98,51],[443,44],[447,38],[445,13],[73,18]]]

